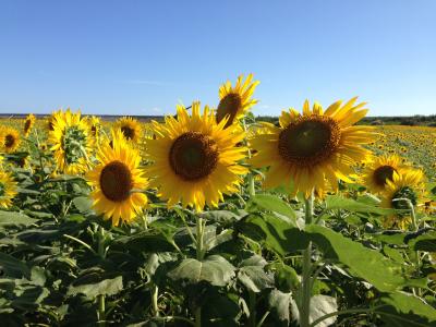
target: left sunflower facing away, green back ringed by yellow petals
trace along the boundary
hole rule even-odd
[[[69,174],[84,172],[93,142],[81,112],[72,113],[70,109],[58,112],[52,122],[53,130],[49,133],[49,143],[52,144],[51,150],[55,152],[58,169]]]

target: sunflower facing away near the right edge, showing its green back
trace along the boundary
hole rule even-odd
[[[397,209],[388,216],[385,227],[398,227],[405,230],[412,222],[410,207],[405,199],[416,207],[425,194],[424,173],[420,169],[409,169],[400,173],[393,172],[392,180],[387,180],[380,206]],[[402,198],[402,199],[401,199]]]

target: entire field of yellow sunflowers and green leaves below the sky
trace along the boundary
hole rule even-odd
[[[356,98],[256,121],[0,121],[0,326],[436,326],[436,128]]]

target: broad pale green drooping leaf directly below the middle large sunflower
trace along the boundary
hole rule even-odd
[[[234,277],[234,267],[220,255],[210,255],[201,262],[185,258],[168,276],[173,280],[185,279],[192,283],[204,280],[222,287]]]

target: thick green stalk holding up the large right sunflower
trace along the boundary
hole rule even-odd
[[[305,225],[312,223],[313,219],[313,194],[304,202],[305,209]],[[305,250],[303,250],[303,274],[301,280],[301,303],[300,303],[300,326],[308,327],[310,326],[310,312],[311,312],[311,295],[312,295],[312,280],[311,280],[311,270],[312,270],[312,242],[308,242],[308,245]]]

